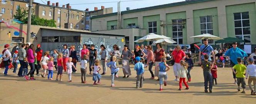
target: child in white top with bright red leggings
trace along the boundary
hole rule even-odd
[[[180,82],[179,82],[179,85],[180,85],[180,88],[179,88],[179,91],[181,91],[182,89],[182,81],[184,83],[184,85],[186,86],[185,89],[189,89],[189,86],[187,85],[186,83],[186,77],[187,77],[187,73],[188,73],[188,70],[187,70],[187,67],[189,66],[184,60],[180,60],[180,70],[178,71],[179,73],[179,78],[180,78]]]

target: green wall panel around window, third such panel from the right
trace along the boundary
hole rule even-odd
[[[166,24],[172,24],[172,20],[175,19],[186,19],[186,12],[168,13],[166,14]],[[187,44],[187,26],[184,24],[185,28],[182,29],[183,34],[183,44]],[[167,36],[172,38],[172,25],[167,25]]]

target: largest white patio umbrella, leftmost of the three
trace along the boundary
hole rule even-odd
[[[154,33],[149,33],[149,34],[147,34],[147,36],[141,37],[140,39],[138,39],[134,42],[157,41],[159,39],[171,39],[171,38],[163,36],[163,35],[157,35],[157,34],[154,34]]]

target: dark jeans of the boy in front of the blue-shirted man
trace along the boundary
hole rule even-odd
[[[204,71],[204,89],[208,89],[209,82],[209,90],[212,90],[212,73],[210,71]]]

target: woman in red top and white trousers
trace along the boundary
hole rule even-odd
[[[181,50],[180,46],[177,45],[175,46],[175,50],[172,52],[172,57],[173,60],[175,61],[173,65],[173,73],[175,75],[175,80],[174,81],[179,81],[178,78],[178,72],[180,71],[180,60],[184,60],[186,55],[185,52]]]

